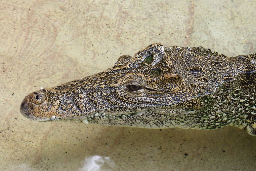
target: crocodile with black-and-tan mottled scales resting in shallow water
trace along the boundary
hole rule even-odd
[[[35,121],[142,128],[216,129],[256,136],[256,52],[227,57],[203,47],[149,45],[112,68],[28,94]]]

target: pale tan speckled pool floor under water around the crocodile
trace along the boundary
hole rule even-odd
[[[150,130],[34,122],[21,100],[152,43],[254,52],[255,1],[0,1],[0,170],[254,170],[235,127]],[[186,155],[185,155],[186,154]]]

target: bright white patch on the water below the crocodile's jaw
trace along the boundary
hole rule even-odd
[[[84,159],[83,167],[78,171],[110,171],[115,163],[109,158],[100,155],[93,155]]]

